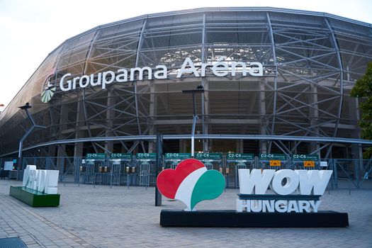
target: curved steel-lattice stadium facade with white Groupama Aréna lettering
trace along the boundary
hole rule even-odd
[[[358,99],[372,26],[328,13],[213,8],[109,23],[50,52],[0,115],[0,156],[196,151],[360,159]]]

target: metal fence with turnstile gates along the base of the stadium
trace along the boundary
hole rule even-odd
[[[16,158],[0,158],[2,175],[0,177],[17,178],[16,170],[4,173],[4,162],[13,161],[13,159]],[[239,188],[238,169],[330,169],[333,174],[329,180],[329,189],[372,189],[372,159],[328,159],[325,162],[327,162],[326,167],[320,167],[320,162],[315,162],[314,167],[304,167],[302,162],[288,158],[281,166],[270,167],[268,162],[261,161],[257,157],[247,162],[234,163],[227,162],[226,157],[222,156],[219,170],[225,176],[227,188]],[[156,182],[156,164],[136,161],[136,159],[113,163],[108,158],[89,162],[89,159],[85,157],[25,157],[23,158],[23,168],[27,164],[35,164],[38,169],[59,170],[60,183],[64,185],[147,187],[154,186]],[[16,162],[14,165],[16,166]],[[171,166],[171,169],[174,169],[175,166]],[[208,167],[208,169],[215,168]],[[19,172],[22,173],[22,171]]]

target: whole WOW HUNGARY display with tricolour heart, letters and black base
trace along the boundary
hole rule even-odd
[[[219,171],[197,159],[185,159],[157,177],[167,198],[186,210],[162,210],[160,225],[178,227],[346,227],[347,213],[319,211],[329,170],[239,169],[236,210],[195,210],[197,203],[218,198],[225,188]],[[269,191],[270,190],[270,191]]]

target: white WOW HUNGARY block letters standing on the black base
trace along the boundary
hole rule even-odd
[[[237,212],[317,213],[331,175],[330,170],[239,169]],[[274,194],[267,194],[268,188]]]

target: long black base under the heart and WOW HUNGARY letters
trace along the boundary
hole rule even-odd
[[[235,210],[162,210],[163,227],[347,227],[347,213],[237,213]]]

